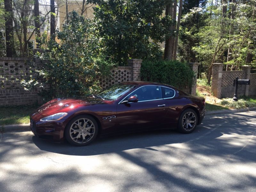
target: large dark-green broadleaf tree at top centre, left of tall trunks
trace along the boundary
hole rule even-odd
[[[172,20],[162,17],[164,0],[89,0],[94,7],[95,26],[99,32],[101,46],[106,55],[119,65],[129,58],[161,58],[160,47],[170,35],[168,28]],[[150,40],[151,39],[151,40]],[[154,42],[151,44],[150,42]]]

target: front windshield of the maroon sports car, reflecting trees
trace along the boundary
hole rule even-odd
[[[125,93],[129,92],[133,87],[134,85],[131,84],[115,84],[99,93],[96,93],[95,96],[106,100],[116,100]]]

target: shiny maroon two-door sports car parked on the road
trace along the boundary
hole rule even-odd
[[[30,122],[39,138],[85,146],[99,134],[171,128],[190,133],[204,113],[203,97],[166,84],[131,81],[84,98],[51,100],[30,115]]]

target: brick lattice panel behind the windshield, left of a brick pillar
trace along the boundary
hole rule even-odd
[[[100,86],[105,89],[111,85],[132,81],[132,67],[131,66],[119,66],[111,71],[111,75],[108,77],[102,77],[99,79]]]

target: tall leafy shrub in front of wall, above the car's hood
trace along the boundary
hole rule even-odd
[[[99,53],[99,39],[94,32],[91,20],[73,11],[63,30],[56,32],[60,42],[53,37],[45,43],[48,50],[40,55],[45,63],[38,70],[39,77],[50,85],[49,91],[42,92],[44,97],[75,97],[100,90],[97,77],[109,73],[115,64]]]

